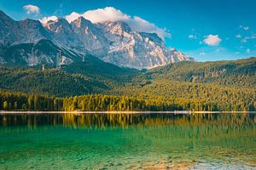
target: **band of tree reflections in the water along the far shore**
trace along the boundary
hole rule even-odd
[[[3,114],[0,126],[131,127],[255,125],[255,114]]]

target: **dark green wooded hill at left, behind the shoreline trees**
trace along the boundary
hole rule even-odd
[[[83,75],[68,74],[65,71],[49,69],[0,68],[0,88],[30,94],[51,94],[70,96],[76,94],[99,93],[108,89],[107,85]]]

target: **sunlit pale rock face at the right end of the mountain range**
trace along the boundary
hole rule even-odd
[[[132,31],[124,22],[104,22],[98,26],[110,42],[108,55],[102,59],[114,65],[149,69],[191,59],[176,49],[167,49],[156,34]]]

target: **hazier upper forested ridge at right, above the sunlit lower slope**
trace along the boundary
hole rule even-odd
[[[234,61],[179,62],[151,69],[144,77],[179,82],[215,82],[243,88],[256,86],[256,57]]]

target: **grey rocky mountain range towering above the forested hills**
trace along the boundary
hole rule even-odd
[[[59,18],[42,25],[38,20],[15,21],[0,11],[0,25],[2,64],[16,64],[19,61],[26,65],[52,65],[58,50],[63,54],[68,51],[69,54],[77,55],[75,58],[78,61],[83,59],[83,55],[91,54],[113,65],[138,70],[193,60],[174,48],[166,48],[165,42],[156,34],[133,31],[125,22],[120,21],[92,24],[90,20],[79,17],[68,23]],[[48,48],[40,53],[27,50],[31,43],[36,46],[41,40],[47,40],[53,46],[46,45]],[[17,58],[14,54],[9,56],[9,49],[15,50],[19,59],[14,59]],[[49,54],[48,50],[55,53]],[[76,61],[70,56],[65,57],[69,60],[67,65]]]

